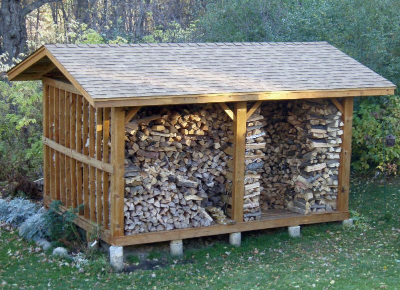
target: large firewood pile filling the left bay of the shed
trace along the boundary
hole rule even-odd
[[[125,125],[125,235],[213,223],[230,127],[217,105],[147,108]]]

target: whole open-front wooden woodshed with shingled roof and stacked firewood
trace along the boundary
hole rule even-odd
[[[7,75],[43,82],[45,206],[117,246],[348,219],[353,97],[395,88],[327,42],[51,44]]]

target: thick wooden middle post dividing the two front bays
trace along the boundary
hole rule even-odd
[[[236,122],[233,126],[233,181],[232,181],[232,219],[236,222],[243,221],[244,197],[244,154],[246,138],[246,113],[247,103],[234,103]]]

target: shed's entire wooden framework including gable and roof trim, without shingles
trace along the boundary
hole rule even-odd
[[[54,70],[64,78],[47,77]],[[43,82],[44,205],[48,207],[51,201],[58,200],[62,210],[67,210],[83,204],[75,223],[86,231],[91,231],[95,224],[100,225],[101,238],[120,246],[347,219],[353,97],[393,94],[395,88],[92,98],[44,46],[7,75],[9,80],[41,79]],[[263,101],[313,98],[330,99],[342,113],[337,211],[243,222],[246,120]],[[247,102],[254,102],[248,110]],[[124,125],[141,106],[198,103],[218,103],[233,120],[234,133],[229,137],[233,146],[224,151],[233,157],[228,162],[232,181],[230,213],[236,224],[124,236]]]

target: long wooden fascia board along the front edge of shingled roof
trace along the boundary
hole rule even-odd
[[[394,94],[394,87],[367,88],[367,89],[333,89],[333,90],[302,90],[302,91],[274,91],[248,93],[222,93],[202,95],[171,95],[149,97],[124,98],[96,98],[93,100],[95,108],[104,107],[131,107],[156,106],[199,103],[220,103],[260,100],[293,100],[313,98],[338,98],[351,96],[381,96]]]

